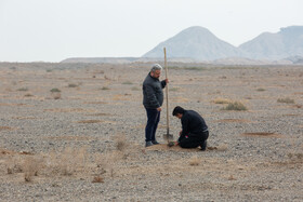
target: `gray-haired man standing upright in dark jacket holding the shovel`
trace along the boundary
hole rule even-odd
[[[163,104],[164,86],[169,80],[160,81],[162,67],[159,64],[153,65],[150,72],[143,82],[143,105],[147,113],[147,123],[145,126],[145,147],[158,145],[156,140],[156,131],[160,121],[161,106]]]

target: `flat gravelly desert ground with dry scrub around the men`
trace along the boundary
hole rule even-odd
[[[0,201],[303,201],[303,66],[169,63],[170,133],[198,111],[206,151],[167,146],[166,105],[144,147],[150,67],[1,63]]]

